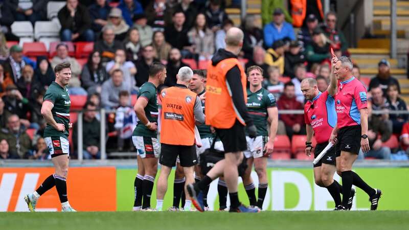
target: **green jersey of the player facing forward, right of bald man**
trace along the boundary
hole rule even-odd
[[[276,106],[276,98],[269,93],[265,88],[252,93],[247,88],[247,110],[250,117],[254,121],[254,125],[257,127],[257,135],[268,135],[267,131],[267,108]]]

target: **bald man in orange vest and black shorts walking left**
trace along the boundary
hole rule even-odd
[[[237,55],[243,46],[243,31],[231,28],[226,33],[226,48],[219,49],[208,66],[206,85],[206,125],[216,130],[224,146],[224,159],[194,184],[188,185],[189,195],[196,209],[203,212],[203,192],[217,177],[223,175],[230,195],[230,212],[259,212],[239,202],[237,195],[238,166],[247,149],[245,127],[249,137],[256,137],[257,129],[246,108],[246,75]]]

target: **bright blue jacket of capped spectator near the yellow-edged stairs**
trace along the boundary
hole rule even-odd
[[[294,35],[294,28],[288,22],[283,22],[283,27],[281,28],[280,32],[278,32],[276,26],[274,25],[274,22],[271,22],[270,24],[264,26],[264,45],[267,48],[271,48],[272,44],[275,41],[281,40],[285,37],[288,37],[291,40],[296,40],[296,36]]]

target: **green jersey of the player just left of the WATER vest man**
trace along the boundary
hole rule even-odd
[[[158,105],[157,105],[157,93],[156,86],[152,82],[145,82],[139,88],[138,98],[146,98],[148,104],[145,107],[145,116],[148,118],[149,122],[157,123],[158,116]],[[138,121],[137,127],[133,130],[133,136],[149,136],[157,138],[157,132],[148,129],[141,121]]]

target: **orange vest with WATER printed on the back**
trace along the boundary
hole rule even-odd
[[[195,142],[194,105],[197,94],[173,86],[162,90],[161,143],[191,146]]]

